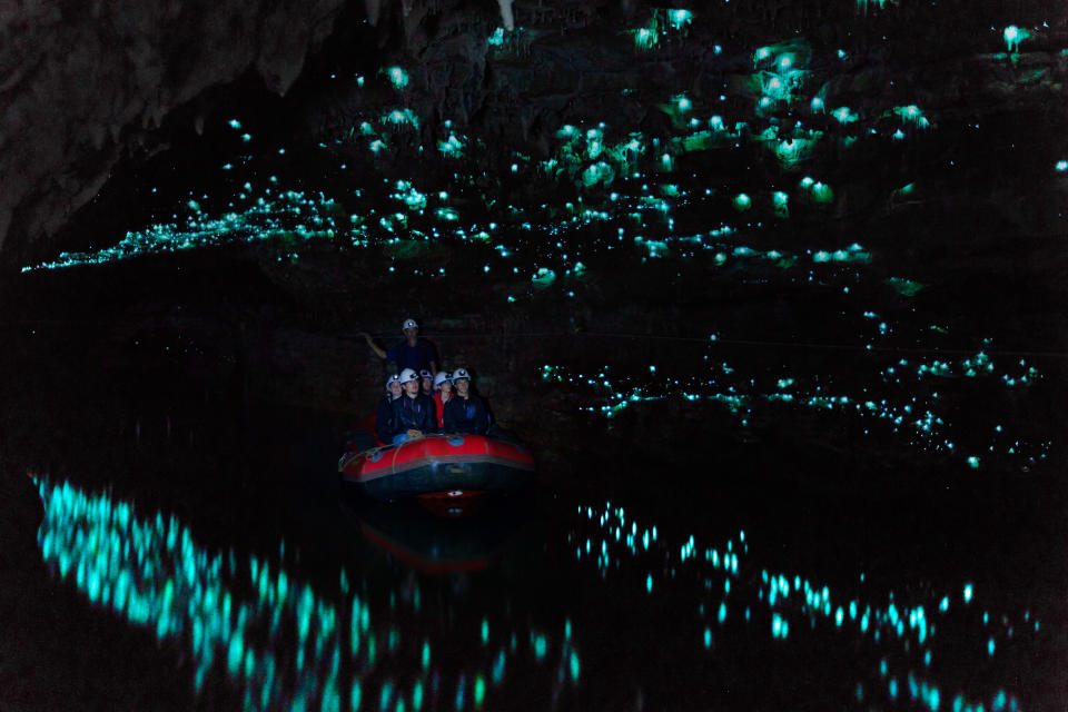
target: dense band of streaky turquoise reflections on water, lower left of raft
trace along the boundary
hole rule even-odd
[[[483,619],[473,632],[481,644],[454,674],[454,661],[435,660],[434,634],[406,621],[417,620],[418,587],[392,590],[379,602],[365,580],[343,568],[342,601],[332,601],[284,564],[255,556],[238,562],[233,550],[228,556],[207,552],[174,516],[140,518],[130,503],[107,494],[37,484],[46,511],[38,534],[44,561],[95,603],[151,626],[160,640],[188,642],[197,689],[222,672],[243,688],[245,709],[402,711],[446,706],[447,700],[456,710],[477,710],[516,659],[528,657],[527,641],[536,664],[552,663],[551,653],[558,659],[560,683],[578,679],[570,622],[550,645],[536,630],[501,641]]]

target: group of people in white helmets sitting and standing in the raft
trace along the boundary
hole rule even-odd
[[[405,319],[404,340],[383,349],[364,334],[367,345],[397,365],[386,379],[386,394],[375,412],[375,435],[383,444],[398,444],[438,433],[505,436],[482,398],[472,390],[471,374],[438,370],[434,345],[419,336],[415,319]]]

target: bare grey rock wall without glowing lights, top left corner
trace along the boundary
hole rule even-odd
[[[255,71],[293,85],[343,0],[0,4],[0,254],[23,263],[176,108]],[[196,111],[192,119],[197,121]],[[196,127],[198,130],[201,126]]]

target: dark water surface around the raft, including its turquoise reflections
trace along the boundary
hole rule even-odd
[[[8,329],[2,710],[1068,699],[1057,473],[864,487],[849,459],[708,435],[660,465],[571,447],[536,493],[447,518],[338,492],[349,416],[190,358],[75,367],[83,334]]]

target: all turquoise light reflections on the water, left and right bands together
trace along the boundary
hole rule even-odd
[[[283,563],[239,562],[233,550],[224,555],[199,546],[174,516],[140,517],[127,502],[69,483],[38,479],[37,486],[46,511],[38,534],[46,563],[93,603],[150,627],[160,640],[190,645],[197,689],[212,678],[228,679],[241,690],[246,709],[477,710],[506,702],[545,709],[568,689],[619,682],[583,674],[572,616],[558,625],[540,629],[527,621],[516,629],[506,606],[481,611],[466,633],[442,631],[421,619],[417,590],[375,596],[366,593],[366,580],[343,570],[338,602],[287,573],[284,545]],[[730,650],[733,642],[785,645],[830,631],[854,650],[852,670],[839,673],[857,675],[850,688],[857,703],[884,695],[907,696],[932,711],[1015,711],[1019,705],[1009,685],[996,686],[1003,673],[996,665],[1041,643],[1045,634],[1029,611],[982,611],[980,617],[979,593],[970,582],[953,592],[882,592],[872,591],[861,573],[854,591],[840,593],[798,572],[752,563],[744,531],[720,543],[695,535],[669,542],[656,525],[642,525],[611,503],[573,513],[566,544],[548,542],[563,561],[570,547],[567,575],[581,584],[593,574],[601,581],[593,585],[609,586],[617,600],[692,600],[689,613],[646,606],[652,630],[668,620],[675,626],[689,622],[693,635],[664,651],[689,664],[700,666],[701,655]],[[353,593],[356,587],[362,592]],[[457,661],[463,635],[469,640]],[[768,643],[760,643],[762,636]],[[619,631],[605,640],[616,645]],[[435,653],[443,646],[452,653]],[[995,668],[986,668],[981,683],[962,686],[992,684],[989,699],[957,689],[955,671],[976,657],[972,647]],[[633,672],[624,662],[614,664],[616,678]],[[523,686],[523,699],[492,703],[508,678]]]

